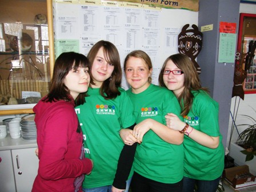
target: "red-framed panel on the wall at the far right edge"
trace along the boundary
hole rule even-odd
[[[256,0],[254,3],[256,3]],[[251,41],[256,41],[256,14],[241,13],[239,18],[237,52],[241,53],[243,69],[245,70],[247,68],[247,76],[243,82],[245,94],[256,93],[256,51],[249,69],[245,66],[245,57],[250,50],[249,43],[253,43]]]

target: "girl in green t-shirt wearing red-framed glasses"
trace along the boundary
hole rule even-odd
[[[218,124],[218,103],[201,86],[190,58],[174,54],[163,63],[159,85],[173,91],[183,120],[168,113],[166,125],[185,135],[183,192],[215,192],[224,168],[224,148]]]

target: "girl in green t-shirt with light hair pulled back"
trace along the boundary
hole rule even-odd
[[[179,118],[175,95],[151,84],[152,63],[144,51],[135,50],[125,58],[126,91],[134,105],[137,125],[121,130],[127,145],[138,141],[134,157],[133,192],[180,192],[183,178],[183,134],[165,125],[169,111]],[[174,72],[175,73],[175,72]],[[118,167],[121,169],[121,167]]]

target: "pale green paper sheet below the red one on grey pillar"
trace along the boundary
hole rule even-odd
[[[219,34],[219,63],[234,63],[235,62],[235,43],[237,34],[220,33]]]

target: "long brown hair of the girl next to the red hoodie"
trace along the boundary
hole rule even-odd
[[[106,79],[100,88],[100,93],[102,97],[105,99],[113,99],[116,98],[118,95],[120,95],[120,91],[118,90],[119,87],[121,87],[121,81],[122,81],[122,68],[119,58],[119,53],[117,50],[117,47],[109,41],[99,41],[95,43],[93,47],[91,47],[91,50],[89,51],[87,57],[90,61],[90,69],[93,65],[94,59],[99,51],[103,47],[103,53],[105,59],[108,59],[107,62],[114,65],[114,71],[111,74],[111,77],[109,79]],[[91,85],[95,85],[93,82],[93,76],[91,75],[90,70],[90,77],[91,77]]]

